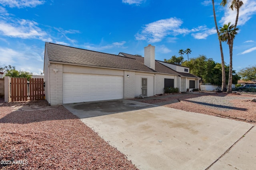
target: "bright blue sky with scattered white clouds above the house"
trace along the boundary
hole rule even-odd
[[[233,49],[237,71],[256,64],[256,0],[242,1]],[[218,26],[234,23],[236,12],[220,2],[215,1]],[[0,0],[1,65],[40,74],[45,41],[142,56],[151,44],[162,61],[190,48],[189,58],[206,55],[221,62],[211,0]],[[229,64],[226,43],[223,49]]]

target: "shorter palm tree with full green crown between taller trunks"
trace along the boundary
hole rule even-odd
[[[235,28],[234,24],[230,25],[230,22],[224,24],[223,27],[220,27],[220,36],[219,39],[222,42],[227,42],[229,48],[229,56],[230,56],[230,63],[229,63],[229,77],[228,77],[228,93],[232,93],[232,55],[233,55],[233,41],[235,35],[237,34],[238,28]]]

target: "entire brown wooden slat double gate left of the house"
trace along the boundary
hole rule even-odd
[[[12,102],[44,100],[43,78],[11,78],[10,88]]]

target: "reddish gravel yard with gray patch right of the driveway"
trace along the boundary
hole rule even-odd
[[[256,123],[256,102],[252,102],[253,99],[256,99],[256,94],[238,95],[194,92],[184,94],[164,94],[163,96],[133,100],[189,112]]]

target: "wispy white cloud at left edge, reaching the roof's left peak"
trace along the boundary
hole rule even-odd
[[[18,37],[23,39],[41,39],[42,41],[52,41],[47,37],[47,33],[38,27],[38,23],[30,20],[0,20],[0,32],[9,37]]]

